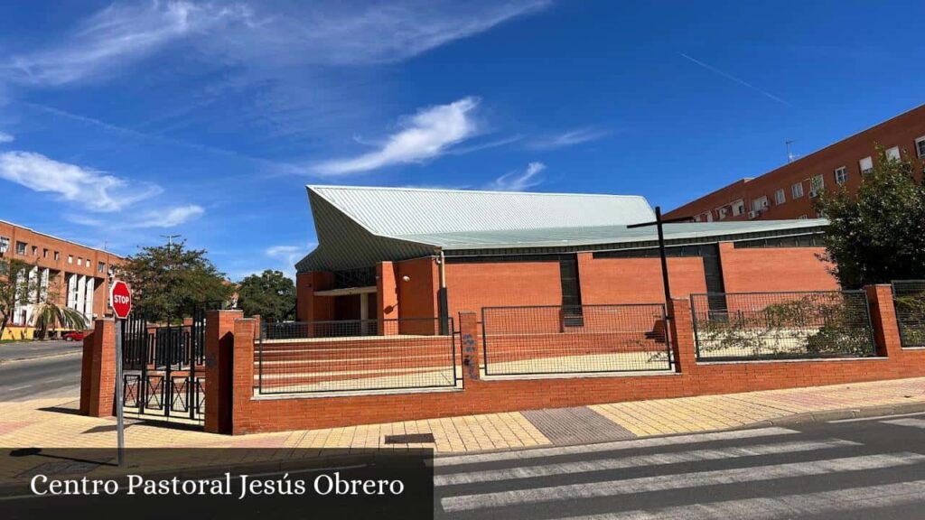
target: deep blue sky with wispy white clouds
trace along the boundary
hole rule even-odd
[[[925,103],[921,2],[0,6],[0,219],[231,279],[314,246],[306,183],[672,208]]]

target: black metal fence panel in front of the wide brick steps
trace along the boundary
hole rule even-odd
[[[439,331],[434,318],[265,323],[257,394],[456,388],[456,341]]]

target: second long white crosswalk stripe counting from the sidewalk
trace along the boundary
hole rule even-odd
[[[755,446],[730,447],[709,450],[693,450],[690,452],[656,453],[652,455],[639,455],[635,457],[600,459],[596,461],[581,461],[575,463],[547,464],[536,466],[515,467],[510,469],[497,469],[457,473],[450,475],[437,475],[434,477],[435,486],[451,486],[455,484],[471,484],[475,482],[495,482],[499,480],[512,480],[516,478],[549,477],[551,475],[566,475],[574,473],[589,473],[611,469],[623,469],[662,464],[692,463],[698,461],[715,461],[736,459],[758,455],[771,455],[779,453],[813,452],[831,448],[844,448],[846,446],[859,446],[850,440],[800,440],[796,442],[781,442],[773,444],[759,444]]]

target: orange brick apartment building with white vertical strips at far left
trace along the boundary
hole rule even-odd
[[[48,235],[0,220],[0,257],[21,260],[32,266],[29,276],[38,281],[40,293],[34,301],[48,294],[56,303],[80,311],[88,322],[105,316],[108,294],[106,279],[111,266],[123,259],[79,243]],[[31,334],[32,305],[19,306],[13,313],[11,338]]]

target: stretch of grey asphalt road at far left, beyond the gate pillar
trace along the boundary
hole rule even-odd
[[[0,402],[80,393],[80,342],[0,345]],[[24,361],[12,361],[26,358]]]

